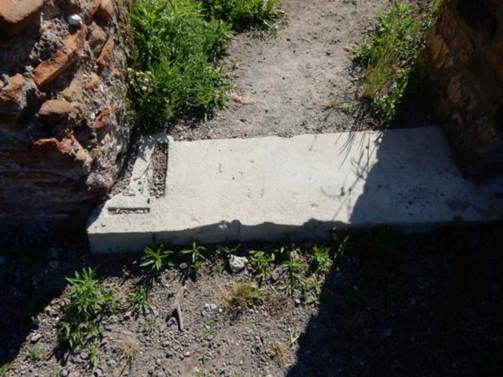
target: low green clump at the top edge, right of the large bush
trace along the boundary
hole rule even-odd
[[[227,22],[234,31],[267,30],[283,15],[278,0],[205,0],[203,5],[212,18]]]

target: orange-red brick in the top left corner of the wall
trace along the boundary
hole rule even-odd
[[[44,0],[0,1],[0,34],[12,36],[33,24],[44,6]]]

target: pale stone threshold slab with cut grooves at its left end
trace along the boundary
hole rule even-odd
[[[318,239],[333,227],[503,216],[492,191],[501,186],[465,180],[438,128],[170,141],[165,192],[157,197],[153,166],[165,141],[160,135],[145,141],[129,186],[91,216],[94,251],[140,251],[154,239],[181,245],[192,238]]]

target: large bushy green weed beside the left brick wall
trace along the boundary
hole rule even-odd
[[[129,20],[136,122],[158,129],[225,104],[229,77],[215,61],[232,36],[228,24],[207,19],[196,0],[133,0]]]

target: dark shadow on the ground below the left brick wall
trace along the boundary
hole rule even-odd
[[[65,276],[74,276],[75,271],[91,266],[97,268],[100,278],[125,278],[124,265],[131,265],[137,257],[91,254],[82,231],[71,235],[39,232],[31,242],[25,239],[30,234],[17,234],[0,252],[0,365],[16,358],[22,345],[31,340],[30,333],[38,329],[39,315],[49,313],[48,305],[61,304],[68,285]],[[64,353],[59,348],[53,352],[58,358]]]

